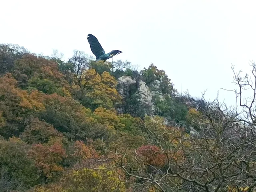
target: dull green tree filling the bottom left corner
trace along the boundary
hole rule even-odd
[[[30,146],[20,138],[0,139],[0,189],[27,190],[39,184],[36,165],[27,156]]]

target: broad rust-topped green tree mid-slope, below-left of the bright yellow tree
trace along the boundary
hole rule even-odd
[[[92,111],[71,97],[62,97],[56,93],[45,95],[44,105],[46,110],[40,113],[40,119],[52,124],[68,139],[95,139],[108,134],[106,127],[94,119]]]

